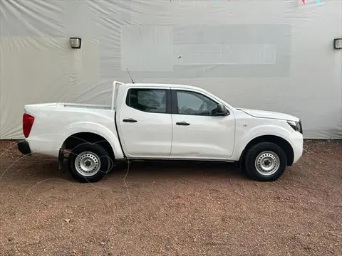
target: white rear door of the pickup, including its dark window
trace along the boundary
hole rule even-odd
[[[168,87],[128,87],[120,107],[121,143],[131,158],[168,158],[172,117]]]

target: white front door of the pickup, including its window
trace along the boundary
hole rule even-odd
[[[202,92],[172,90],[172,158],[227,159],[234,149],[232,113],[215,116],[218,103]]]

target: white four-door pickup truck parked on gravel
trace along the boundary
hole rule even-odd
[[[232,107],[199,87],[113,82],[111,106],[26,105],[22,154],[56,156],[81,182],[99,181],[115,161],[237,162],[274,181],[303,154],[301,121]]]

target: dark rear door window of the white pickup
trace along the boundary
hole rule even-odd
[[[126,105],[135,110],[151,113],[166,113],[166,90],[162,89],[130,89],[126,97]]]

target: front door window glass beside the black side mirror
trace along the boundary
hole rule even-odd
[[[197,92],[177,91],[178,114],[211,116],[217,103]]]

